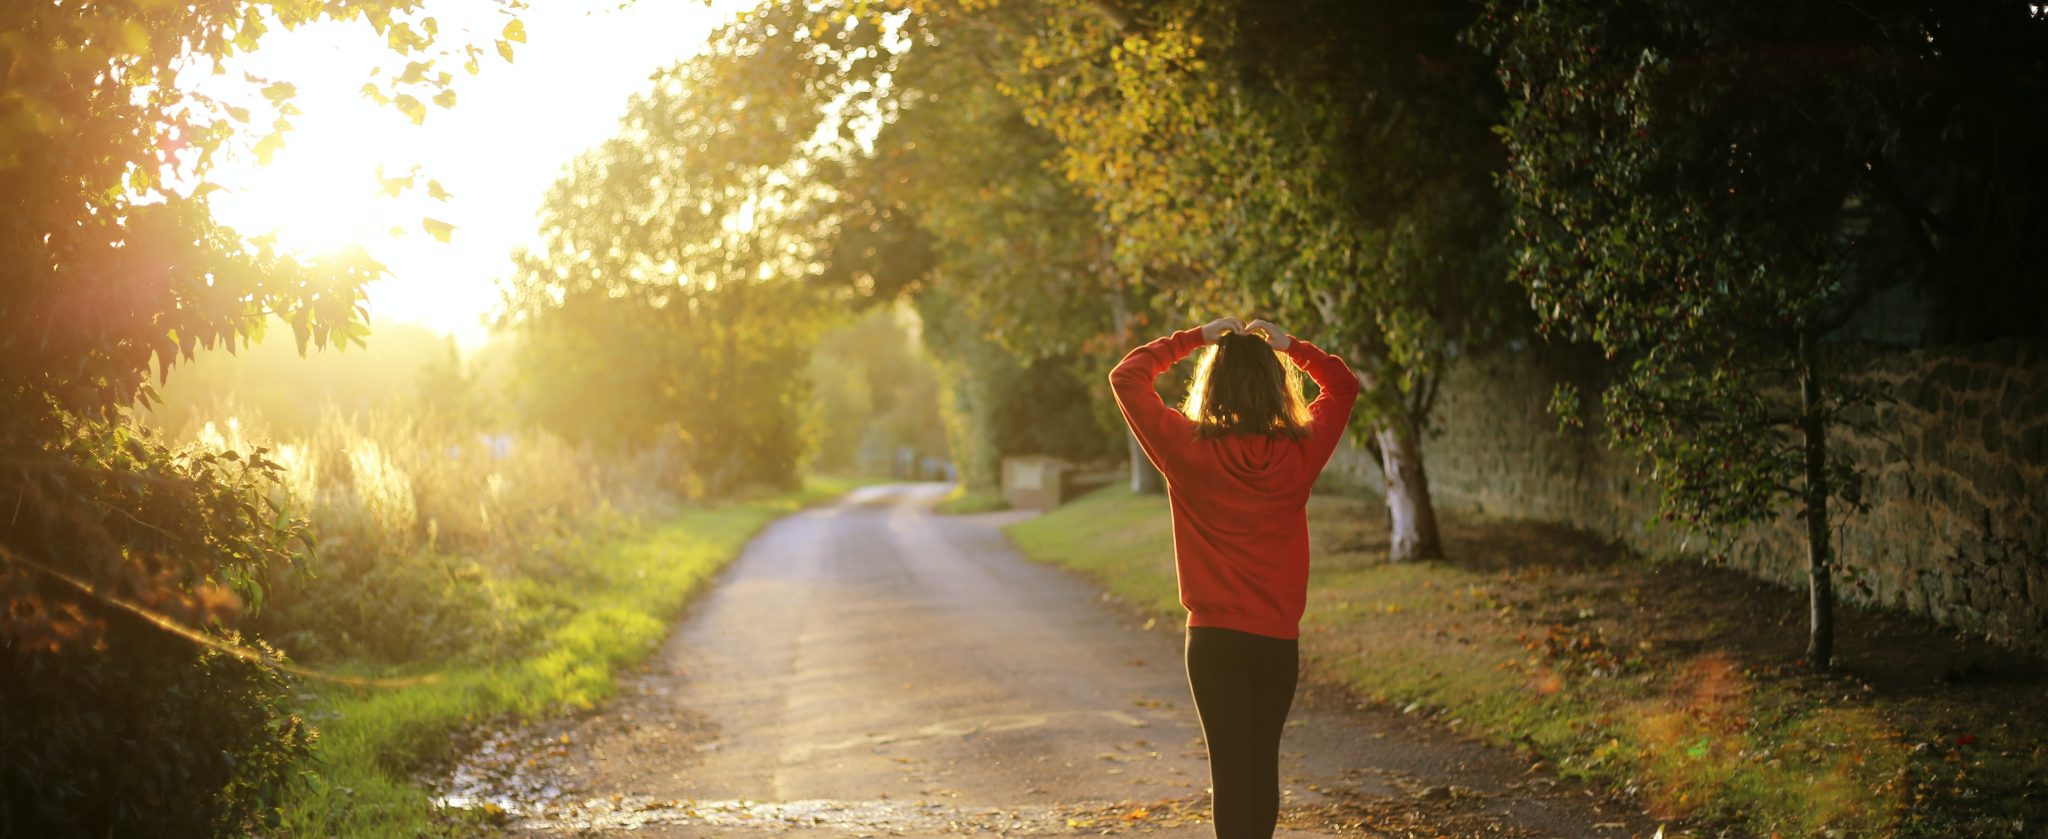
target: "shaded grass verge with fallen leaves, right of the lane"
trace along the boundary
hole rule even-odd
[[[1362,698],[1626,790],[1667,835],[2048,835],[2038,659],[1839,606],[1843,663],[1815,675],[1794,665],[1800,591],[1462,516],[1442,520],[1450,559],[1393,565],[1384,518],[1370,497],[1309,503],[1303,657]],[[1010,536],[1184,616],[1163,497],[1104,489]]]

